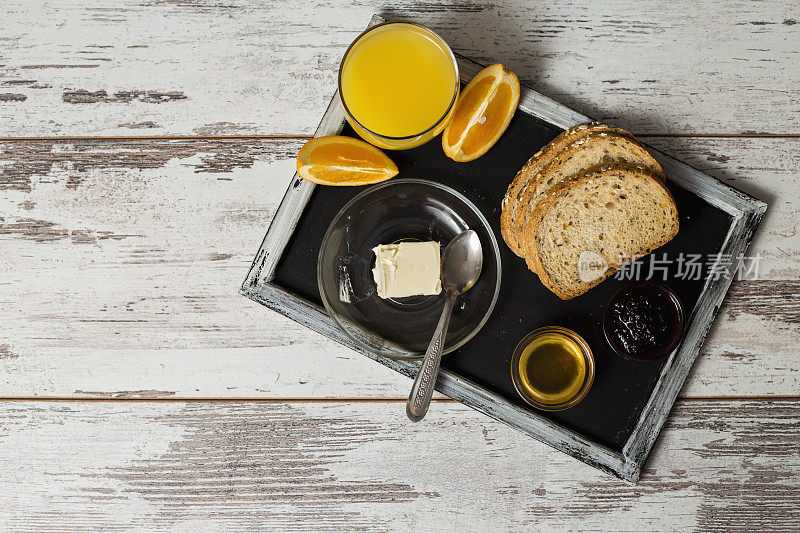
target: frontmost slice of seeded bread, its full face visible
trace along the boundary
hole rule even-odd
[[[564,180],[539,201],[525,229],[528,265],[563,300],[583,294],[624,263],[650,253],[678,233],[678,211],[651,171],[611,165]],[[607,267],[587,279],[586,258]]]

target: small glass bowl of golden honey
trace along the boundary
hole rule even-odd
[[[511,378],[530,405],[561,411],[589,392],[594,381],[594,356],[574,331],[560,326],[539,328],[526,335],[514,350]]]

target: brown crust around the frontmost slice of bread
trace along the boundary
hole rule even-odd
[[[663,238],[659,239],[658,242],[653,244],[649,249],[643,251],[642,255],[647,255],[651,253],[656,248],[659,248],[672,240],[675,235],[677,235],[680,229],[680,220],[678,218],[678,210],[677,206],[675,205],[675,200],[672,197],[672,194],[669,192],[669,189],[664,185],[661,179],[657,176],[654,176],[652,172],[648,171],[646,168],[641,166],[635,165],[606,165],[596,170],[587,171],[579,176],[574,176],[572,178],[566,179],[558,184],[556,184],[544,198],[539,201],[539,204],[536,206],[532,213],[532,217],[529,221],[529,227],[525,232],[525,241],[527,248],[526,250],[530,250],[531,253],[526,254],[526,262],[528,267],[534,271],[536,274],[539,275],[539,279],[541,282],[547,287],[550,291],[552,291],[556,296],[561,298],[562,300],[569,300],[575,298],[576,296],[580,296],[581,294],[585,293],[592,287],[598,285],[605,279],[612,276],[615,272],[621,268],[622,263],[619,265],[612,265],[609,264],[608,270],[599,278],[593,280],[590,283],[583,283],[575,290],[561,290],[560,287],[557,287],[553,282],[552,278],[550,277],[549,273],[543,266],[542,256],[538,247],[531,246],[531,241],[535,241],[536,234],[539,229],[539,225],[541,224],[542,220],[544,219],[545,215],[551,209],[551,207],[563,196],[565,196],[573,187],[582,185],[587,183],[591,180],[597,179],[606,174],[622,174],[624,175],[625,180],[638,180],[638,181],[648,181],[652,185],[658,187],[665,195],[667,199],[666,205],[670,207],[670,212],[672,215],[672,228],[671,231],[666,234]]]

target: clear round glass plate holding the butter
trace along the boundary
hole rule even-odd
[[[372,277],[379,244],[437,241],[444,247],[472,229],[483,247],[483,270],[459,296],[444,353],[470,340],[486,323],[500,291],[500,250],[472,202],[426,180],[391,180],[358,194],[331,222],[317,261],[317,283],[328,314],[357,344],[392,359],[424,355],[444,306],[438,296],[382,299]]]

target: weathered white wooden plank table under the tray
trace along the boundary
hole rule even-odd
[[[696,4],[3,2],[0,529],[800,529],[800,5]],[[638,485],[237,294],[373,13],[770,204]]]

